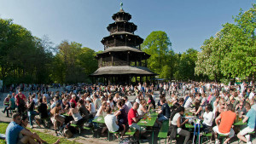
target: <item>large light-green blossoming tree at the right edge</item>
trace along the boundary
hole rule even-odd
[[[196,61],[196,74],[207,75],[217,81],[230,78],[250,78],[256,72],[256,5],[241,11],[226,23],[216,37],[207,39],[201,46]]]

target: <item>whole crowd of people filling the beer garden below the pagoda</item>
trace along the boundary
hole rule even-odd
[[[201,131],[212,133],[215,143],[219,142],[217,134],[227,135],[228,138],[224,141],[227,143],[234,137],[235,131],[241,141],[250,143],[247,133],[254,131],[256,123],[254,88],[246,83],[235,86],[197,82],[156,85],[139,83],[136,86],[80,84],[67,85],[65,91],[36,90],[36,93],[31,91],[29,95],[24,95],[20,89],[17,94],[11,93],[5,98],[3,112],[8,117],[9,112],[15,109],[18,112],[13,114],[14,122],[6,130],[8,143],[14,141],[8,139],[8,135],[13,134],[17,135],[15,141],[21,141],[19,133],[29,137],[27,140],[44,142],[35,134],[26,135],[21,132],[22,129],[17,126],[19,124],[23,128],[26,128],[26,122],[29,122],[31,128],[34,124],[49,128],[51,122],[58,135],[58,130],[63,126],[69,128],[71,124],[76,124],[83,127],[83,124],[92,123],[97,117],[103,117],[105,121],[102,136],[109,130],[120,132],[123,137],[125,131],[134,128],[137,130],[135,136],[147,139],[143,133],[148,128],[140,127],[137,123],[152,109],[158,113],[155,125],[160,128],[164,121],[170,120],[169,139],[176,139],[178,134],[184,144],[191,140],[191,132],[184,126],[191,123],[191,119],[186,117],[188,113],[193,113],[195,118],[202,120]],[[160,91],[158,101],[155,90]],[[136,95],[136,98],[129,101],[131,95]],[[25,123],[18,121],[20,117]],[[247,127],[239,132],[236,128],[233,129],[233,124],[241,119],[243,123],[247,122]],[[14,133],[14,129],[18,132]]]

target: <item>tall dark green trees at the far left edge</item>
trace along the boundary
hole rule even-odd
[[[12,20],[0,19],[0,79],[4,84],[49,81],[47,65],[52,54],[42,42]]]

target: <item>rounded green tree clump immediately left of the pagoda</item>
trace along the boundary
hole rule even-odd
[[[81,43],[63,41],[53,60],[51,78],[56,83],[90,82],[88,76],[97,69],[96,52]]]

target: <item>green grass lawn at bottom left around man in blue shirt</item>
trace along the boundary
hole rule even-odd
[[[1,134],[5,134],[5,130],[7,128],[9,123],[0,123],[0,133]],[[60,137],[56,137],[54,135],[49,135],[48,130],[45,129],[44,132],[40,132],[37,130],[32,130],[32,132],[36,132],[44,141],[47,141],[48,143],[54,143],[55,141],[57,141],[58,139],[61,139],[61,144],[79,144],[79,142],[76,141],[68,141],[66,138],[60,138]],[[0,140],[0,144],[5,144],[5,141]]]

